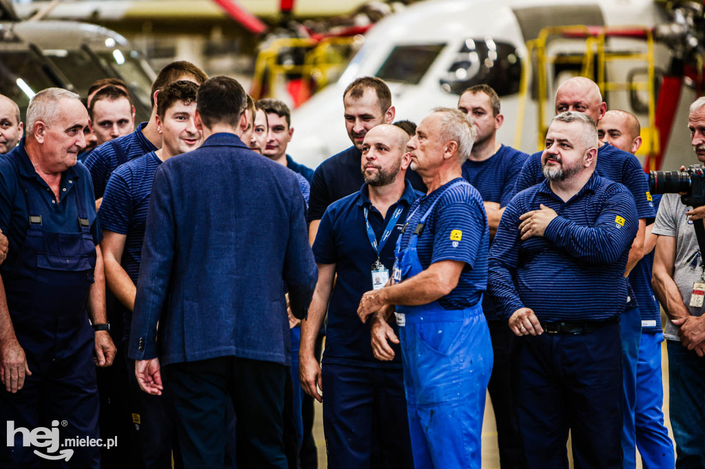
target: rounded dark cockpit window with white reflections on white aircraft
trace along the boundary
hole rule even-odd
[[[461,94],[474,85],[489,85],[499,96],[519,92],[522,61],[519,51],[512,44],[491,37],[466,39],[450,65],[441,89]]]

